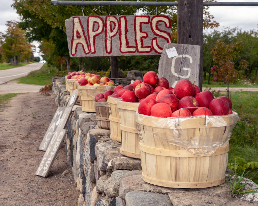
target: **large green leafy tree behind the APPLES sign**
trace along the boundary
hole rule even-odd
[[[214,0],[209,0],[214,1]],[[55,45],[54,53],[56,57],[62,56],[66,60],[67,70],[70,66],[70,57],[68,54],[67,38],[65,19],[69,19],[71,16],[82,15],[80,6],[72,5],[55,5],[51,6],[50,1],[42,0],[14,0],[13,7],[17,10],[17,13],[21,16],[22,22],[20,26],[26,29],[27,36],[31,40],[37,41],[50,41]],[[206,8],[205,8],[206,10]],[[176,32],[177,16],[176,7],[158,6],[158,14],[170,14],[172,23],[172,31]],[[135,15],[135,14],[147,14],[156,15],[156,10],[151,6],[84,6],[85,15]],[[205,28],[216,25],[212,21],[212,15],[208,15],[207,12],[204,18]],[[57,38],[55,38],[57,37]],[[175,41],[174,41],[175,42]],[[135,59],[140,57],[135,57]],[[149,57],[146,57],[149,58]],[[109,62],[111,65],[111,76],[117,74],[120,57],[110,57]],[[133,59],[133,58],[131,58]],[[78,62],[76,60],[71,60]],[[113,64],[114,61],[114,64]],[[92,60],[93,62],[93,60]],[[157,63],[156,63],[157,65]],[[155,67],[156,67],[155,65]],[[135,65],[136,66],[136,65]],[[98,68],[99,69],[99,68]]]

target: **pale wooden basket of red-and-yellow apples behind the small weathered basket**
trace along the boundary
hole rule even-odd
[[[97,85],[97,86],[78,86],[80,100],[82,102],[82,111],[96,112],[95,96],[98,93],[104,93],[107,90],[113,90],[113,86]]]

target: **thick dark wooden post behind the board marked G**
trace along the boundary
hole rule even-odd
[[[178,0],[178,44],[199,45],[199,88],[203,83],[203,0]]]

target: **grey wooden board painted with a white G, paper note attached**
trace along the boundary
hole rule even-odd
[[[200,46],[165,44],[158,67],[158,76],[165,77],[173,88],[180,79],[188,79],[198,86]]]

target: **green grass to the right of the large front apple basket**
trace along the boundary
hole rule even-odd
[[[224,96],[222,94],[214,94]],[[235,162],[235,157],[243,158],[246,162],[239,162],[238,165],[243,166],[244,163],[258,161],[258,92],[242,91],[230,92],[232,101],[232,111],[239,115],[239,120],[233,129],[229,145],[229,163]],[[248,168],[247,178],[251,178],[258,184],[258,168]],[[238,170],[240,176],[243,171]]]

